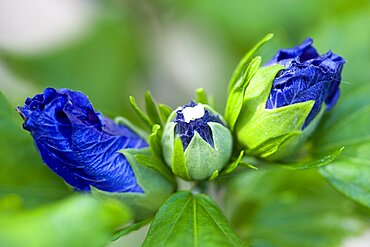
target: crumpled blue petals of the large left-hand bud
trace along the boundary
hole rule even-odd
[[[42,160],[76,190],[143,192],[126,157],[118,151],[148,144],[129,128],[95,112],[86,95],[45,89],[24,107],[23,128],[34,138]]]

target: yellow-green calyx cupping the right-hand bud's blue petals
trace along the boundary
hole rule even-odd
[[[283,68],[281,65],[259,68],[245,91],[235,129],[247,154],[268,157],[285,145],[281,155],[287,155],[290,148],[300,141],[302,126],[314,101],[265,109],[273,80]]]

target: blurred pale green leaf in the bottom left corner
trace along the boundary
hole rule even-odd
[[[35,210],[0,213],[0,246],[104,246],[130,219],[117,201],[74,196]]]

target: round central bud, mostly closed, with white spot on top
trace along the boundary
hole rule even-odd
[[[201,180],[218,174],[229,161],[232,137],[212,108],[191,101],[170,115],[162,145],[164,158],[177,176]]]

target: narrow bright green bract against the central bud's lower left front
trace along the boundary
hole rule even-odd
[[[184,153],[184,147],[180,137],[175,138],[173,144],[173,154],[172,154],[172,172],[179,177],[182,177],[186,180],[191,180],[189,176],[189,171],[186,166],[186,158]]]

